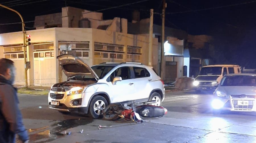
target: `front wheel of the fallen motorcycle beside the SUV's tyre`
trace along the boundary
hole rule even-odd
[[[104,120],[117,120],[119,118],[119,113],[122,112],[122,107],[118,104],[110,104],[108,105],[103,112],[103,119]]]

